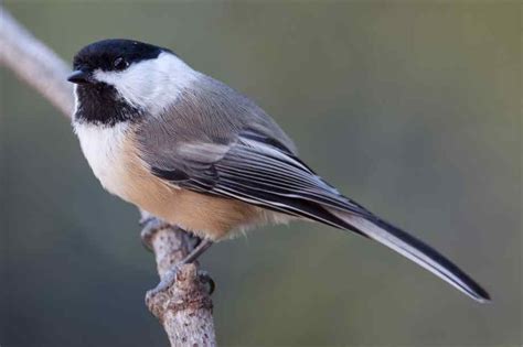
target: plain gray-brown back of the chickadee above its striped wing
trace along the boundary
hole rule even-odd
[[[146,117],[137,134],[146,161],[161,165],[177,160],[174,150],[182,143],[227,144],[246,128],[277,139],[289,152],[296,152],[289,137],[255,102],[201,75],[162,113]]]

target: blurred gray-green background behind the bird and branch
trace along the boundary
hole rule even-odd
[[[250,96],[348,196],[449,256],[480,305],[361,237],[297,223],[202,258],[222,346],[522,343],[521,3],[6,1],[62,57],[172,48]],[[68,121],[0,69],[0,344],[167,346],[137,209]]]

